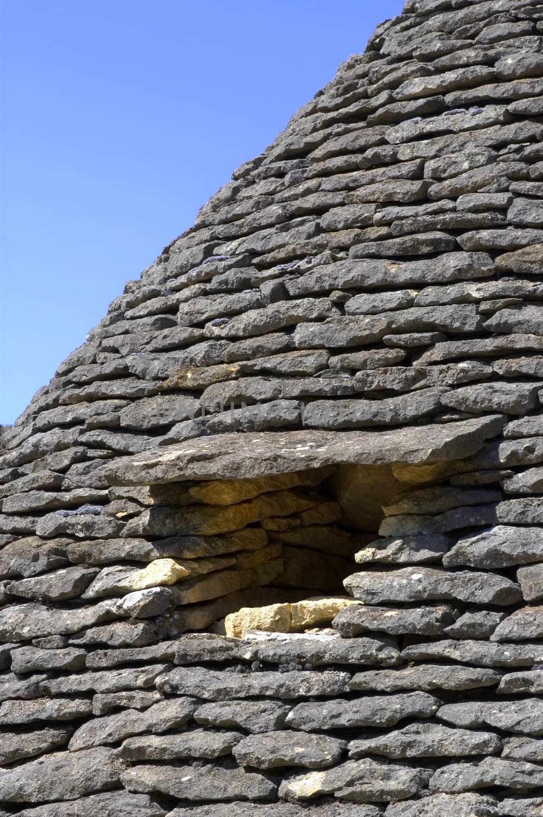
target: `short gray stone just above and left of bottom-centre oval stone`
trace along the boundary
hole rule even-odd
[[[204,726],[222,729],[241,726],[251,734],[261,734],[283,729],[291,709],[292,706],[280,701],[220,701],[203,703],[194,712],[194,720]]]

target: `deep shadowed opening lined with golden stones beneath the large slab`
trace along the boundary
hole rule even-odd
[[[122,535],[140,542],[148,565],[103,571],[86,595],[127,593],[119,611],[164,616],[177,633],[328,627],[358,604],[343,581],[375,561],[383,506],[442,469],[344,464],[110,489],[119,514],[131,517]]]

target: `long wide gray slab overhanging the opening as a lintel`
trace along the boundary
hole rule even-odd
[[[116,459],[87,475],[96,486],[247,479],[327,465],[450,462],[501,431],[501,415],[394,431],[222,434]]]

